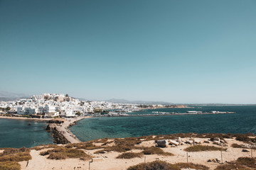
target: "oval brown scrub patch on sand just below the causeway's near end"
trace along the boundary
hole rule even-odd
[[[42,156],[49,155],[48,159],[68,159],[68,158],[80,158],[82,160],[91,159],[92,157],[80,149],[72,149],[66,147],[59,147],[50,149],[40,153]]]

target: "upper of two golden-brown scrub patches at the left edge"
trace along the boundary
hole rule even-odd
[[[16,148],[6,148],[4,152],[0,154],[0,162],[22,162],[32,159],[30,155],[30,149],[22,147],[20,149]]]

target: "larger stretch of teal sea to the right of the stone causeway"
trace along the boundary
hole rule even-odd
[[[132,114],[153,114],[153,111],[235,111],[235,114],[164,115],[147,117],[102,117],[80,120],[70,130],[82,141],[105,137],[139,137],[181,132],[219,132],[256,134],[256,106],[196,106],[194,108],[161,108]]]

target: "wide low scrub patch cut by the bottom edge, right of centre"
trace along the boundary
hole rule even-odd
[[[192,163],[178,163],[178,164],[169,164],[168,162],[163,161],[154,161],[148,163],[137,164],[135,166],[130,166],[127,170],[181,170],[181,169],[200,169],[208,170],[207,166],[201,164],[192,164]]]

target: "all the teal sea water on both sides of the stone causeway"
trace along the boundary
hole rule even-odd
[[[256,134],[256,106],[202,106],[195,108],[162,108],[132,114],[151,114],[152,111],[235,111],[218,115],[165,115],[148,117],[87,118],[70,130],[82,141],[105,137],[138,137],[143,135],[179,132],[223,132]],[[31,125],[28,125],[28,124]],[[32,120],[0,119],[0,147],[34,147],[52,144],[46,123]]]

